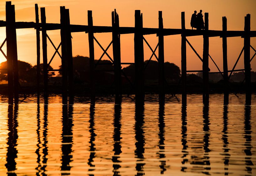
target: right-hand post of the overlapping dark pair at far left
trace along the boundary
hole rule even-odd
[[[11,20],[12,20],[12,52],[13,52],[13,83],[14,83],[14,103],[19,103],[19,78],[18,78],[18,53],[17,53],[17,37],[15,28],[15,8],[14,5],[11,6]]]

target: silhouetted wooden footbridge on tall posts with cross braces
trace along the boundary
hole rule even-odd
[[[144,69],[148,65],[151,58],[154,56],[159,65],[159,97],[163,98],[165,95],[165,71],[164,71],[164,36],[181,34],[181,81],[182,81],[182,101],[186,101],[186,74],[187,72],[203,72],[203,101],[208,103],[209,100],[209,74],[220,73],[224,80],[224,92],[228,96],[228,80],[234,71],[244,71],[245,85],[247,99],[251,99],[251,65],[253,57],[256,55],[256,50],[250,45],[250,38],[256,37],[256,31],[250,31],[250,14],[244,17],[244,31],[227,31],[227,18],[222,17],[222,31],[209,30],[208,13],[205,13],[205,30],[191,30],[185,29],[185,12],[181,12],[181,29],[170,29],[163,27],[162,12],[159,11],[159,27],[158,28],[145,28],[143,27],[143,16],[140,10],[135,10],[135,26],[134,27],[120,27],[119,16],[116,11],[112,12],[112,26],[93,26],[92,11],[88,11],[88,25],[73,25],[70,24],[69,9],[64,6],[60,7],[60,23],[46,23],[45,8],[40,8],[41,22],[39,22],[39,8],[35,4],[36,22],[16,22],[15,21],[15,8],[11,2],[6,2],[6,21],[0,21],[0,27],[6,27],[6,39],[0,46],[0,51],[7,59],[8,64],[8,103],[18,103],[18,56],[17,56],[17,38],[16,29],[21,28],[34,28],[36,31],[36,45],[37,45],[37,94],[39,100],[39,76],[40,76],[40,32],[42,33],[42,52],[43,52],[43,73],[44,73],[44,103],[48,103],[48,71],[51,61],[54,56],[58,54],[61,58],[62,66],[62,102],[67,104],[68,95],[69,103],[73,103],[73,58],[72,58],[72,32],[85,32],[88,33],[89,40],[89,55],[90,55],[90,80],[91,80],[91,101],[95,101],[95,67],[100,64],[100,60],[106,54],[112,61],[114,66],[114,82],[115,82],[115,96],[116,100],[121,100],[121,75],[125,75],[121,68],[121,64],[134,64],[135,65],[135,98],[136,100],[144,99]],[[56,47],[47,35],[47,31],[59,30],[61,42]],[[94,33],[112,32],[112,41],[106,49],[94,37]],[[120,35],[121,34],[134,34],[134,63],[122,63],[120,52]],[[156,34],[158,37],[158,44],[153,49],[144,35]],[[199,56],[187,37],[202,36],[203,37],[203,57]],[[221,71],[212,57],[209,55],[209,37],[222,37],[223,48],[223,71]],[[244,38],[243,49],[238,56],[238,59],[233,66],[232,70],[227,69],[227,37],[242,37]],[[47,39],[55,48],[55,53],[49,60],[47,58]],[[95,64],[94,60],[94,41],[102,48],[103,54],[99,61]],[[7,54],[2,50],[4,43],[7,42]],[[149,46],[152,55],[146,65],[144,65],[144,42]],[[198,58],[202,61],[202,70],[188,71],[186,69],[186,43],[196,53]],[[112,45],[113,58],[111,58],[107,50]],[[61,54],[58,51],[61,46]],[[158,56],[155,51],[158,48]],[[250,48],[255,51],[255,54],[250,58]],[[244,52],[244,69],[235,70],[238,60]],[[209,57],[217,67],[219,72],[210,72]],[[130,84],[133,83],[128,79]],[[14,95],[14,96],[13,96]]]

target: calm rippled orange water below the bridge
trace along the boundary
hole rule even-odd
[[[18,106],[0,95],[0,175],[256,175],[256,95],[76,97],[62,105],[51,95]]]

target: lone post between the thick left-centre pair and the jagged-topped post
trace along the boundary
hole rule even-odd
[[[95,80],[94,80],[94,36],[93,36],[92,11],[88,10],[88,40],[90,56],[90,81],[91,81],[91,103],[95,102]]]

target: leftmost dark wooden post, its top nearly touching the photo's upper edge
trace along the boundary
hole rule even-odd
[[[12,10],[11,1],[6,2],[6,47],[8,72],[8,104],[13,104],[13,45],[12,45]]]

